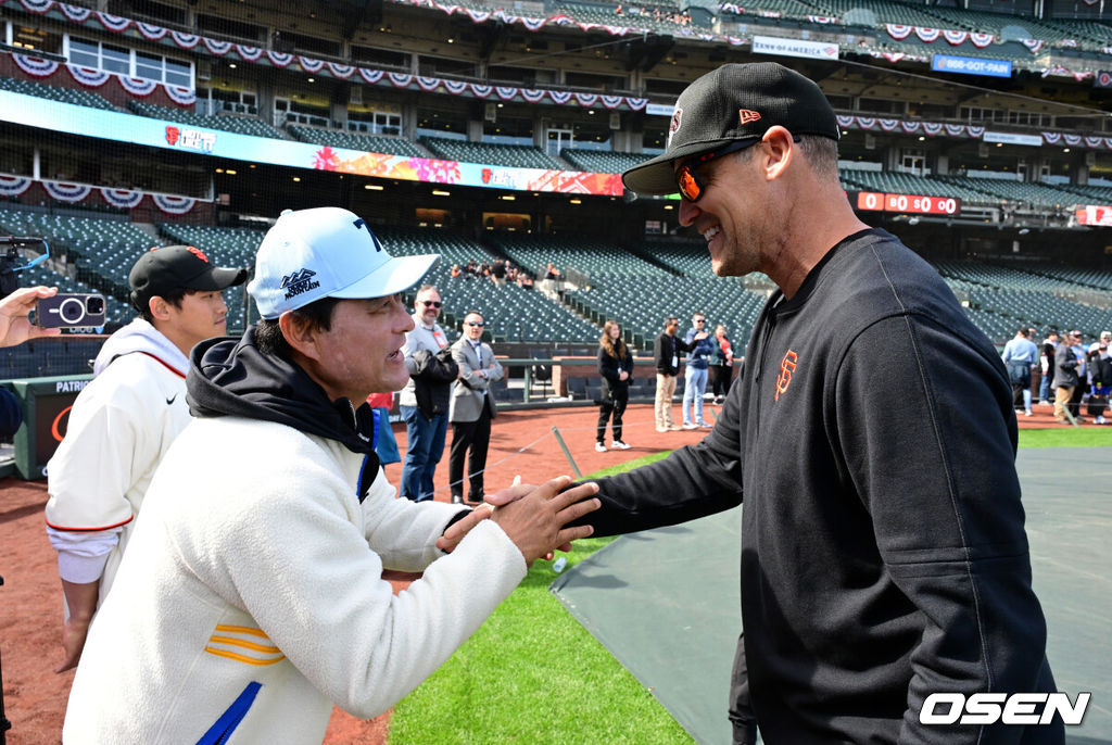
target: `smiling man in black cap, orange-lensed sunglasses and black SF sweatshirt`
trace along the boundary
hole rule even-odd
[[[747,660],[766,743],[1060,743],[1056,716],[934,724],[959,722],[934,693],[1055,691],[1011,385],[937,272],[857,219],[837,139],[814,82],[726,64],[679,96],[665,152],[624,175],[683,196],[715,274],[780,289],[711,434],[602,479],[584,522],[629,533],[744,500],[735,669]]]

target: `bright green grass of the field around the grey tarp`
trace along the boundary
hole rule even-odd
[[[1112,427],[1020,430],[1021,448],[1101,446],[1112,446]],[[589,477],[631,470],[665,455]],[[568,565],[610,540],[576,543]],[[692,742],[548,592],[555,576],[548,562],[534,564],[475,636],[395,707],[390,743]]]

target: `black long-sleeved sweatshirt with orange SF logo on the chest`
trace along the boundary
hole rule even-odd
[[[714,430],[602,479],[584,522],[631,533],[745,496],[742,620],[765,742],[1062,742],[1060,719],[919,722],[934,692],[1055,691],[1011,386],[939,275],[882,230],[850,236],[791,300],[770,298],[745,359]]]

